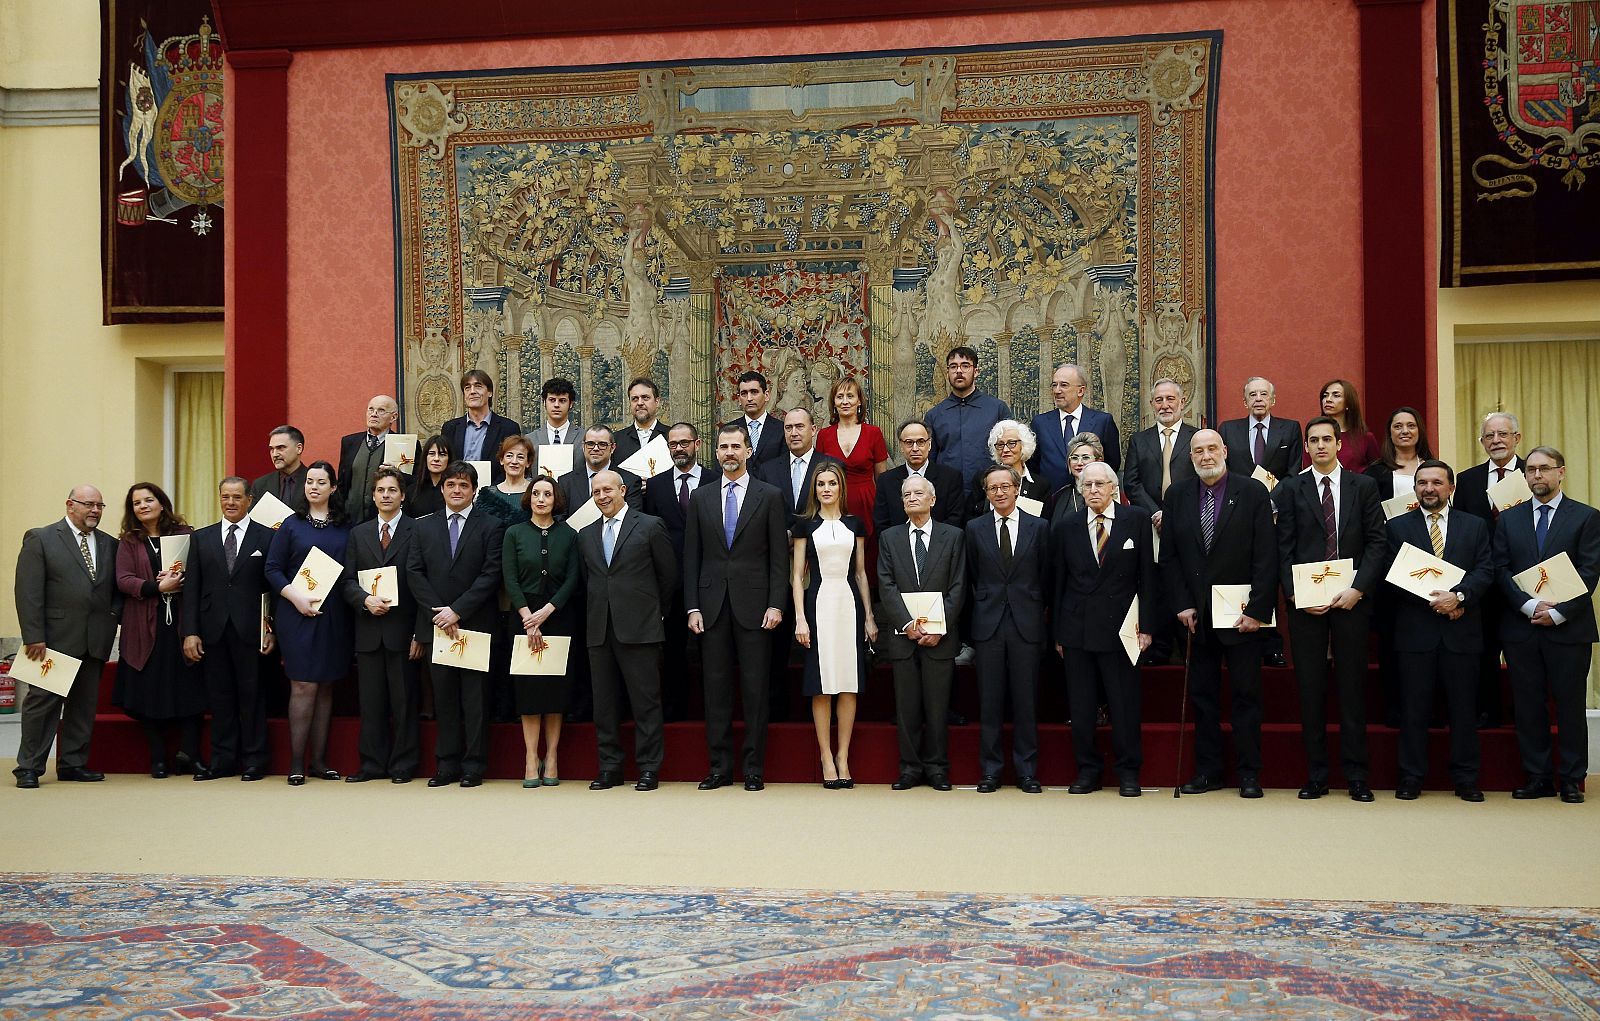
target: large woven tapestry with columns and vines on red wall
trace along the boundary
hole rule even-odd
[[[408,429],[483,368],[531,427],[549,376],[582,422],[826,413],[946,395],[944,355],[1018,414],[1078,362],[1133,432],[1141,390],[1211,378],[1219,34],[779,62],[392,75],[398,389]],[[826,419],[824,419],[826,421]]]

